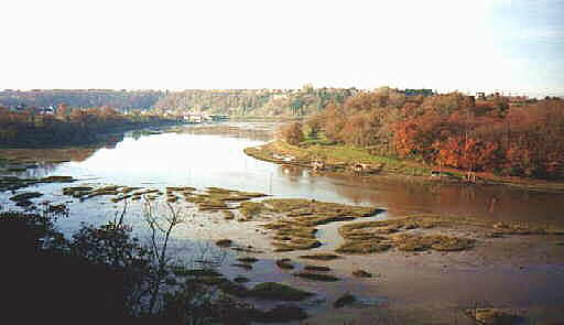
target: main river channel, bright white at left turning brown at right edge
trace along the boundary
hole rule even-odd
[[[359,180],[311,175],[306,169],[276,165],[247,156],[242,150],[271,137],[274,124],[227,123],[218,128],[187,127],[183,133],[128,136],[115,148],[102,148],[83,161],[30,170],[40,175],[70,175],[76,184],[116,184],[164,188],[187,185],[262,192],[276,197],[373,205],[391,215],[443,213],[496,219],[564,224],[564,194],[535,193],[506,186],[420,184],[409,181]],[[44,199],[68,201],[63,184],[36,186]],[[7,202],[8,194],[0,194]],[[96,204],[98,207],[96,207]],[[82,215],[102,215],[108,198],[82,204]],[[78,208],[78,207],[77,207]],[[82,218],[78,218],[82,219]]]

